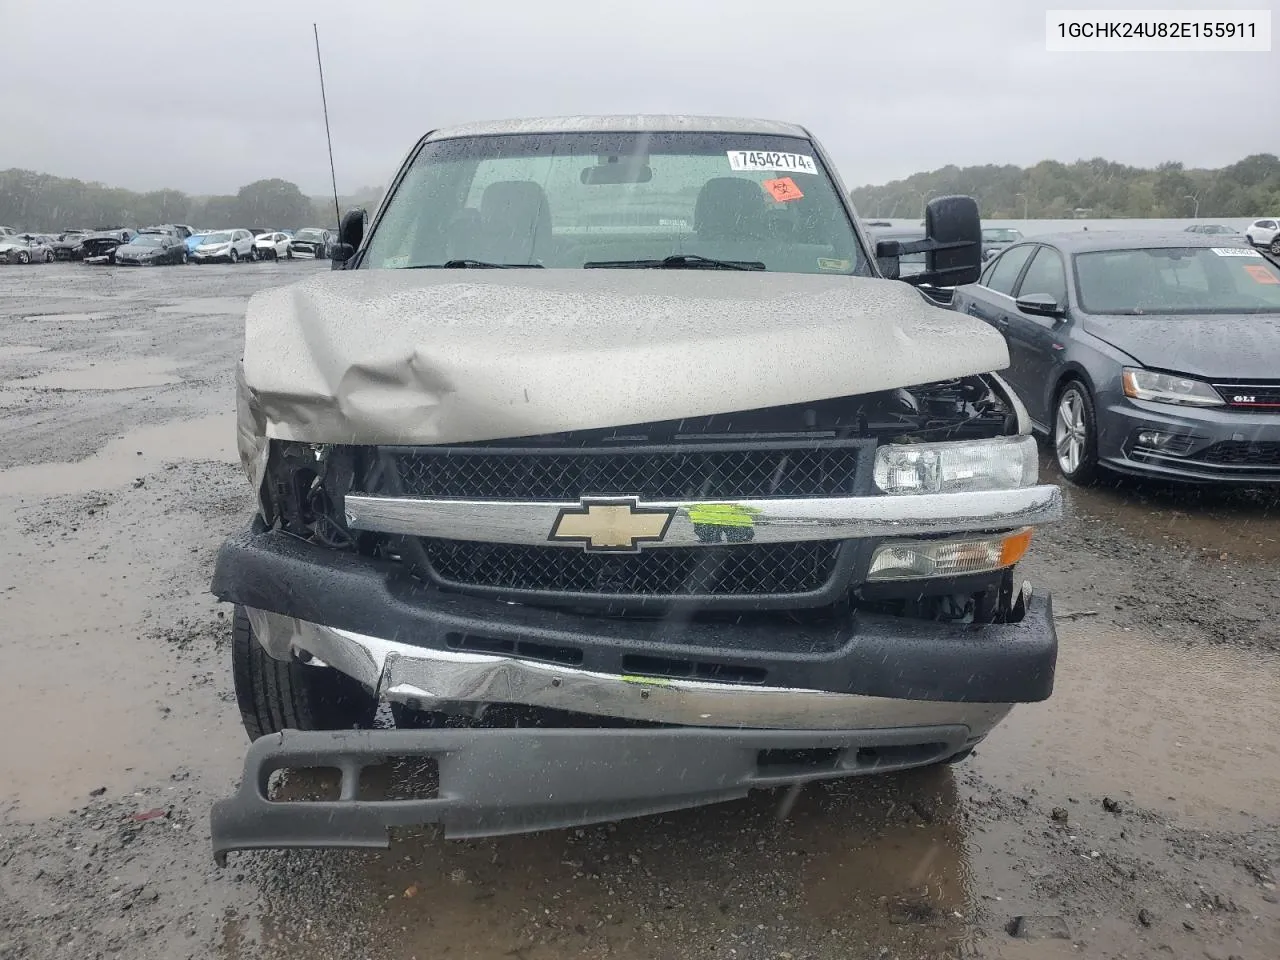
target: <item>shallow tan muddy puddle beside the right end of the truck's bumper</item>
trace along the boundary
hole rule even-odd
[[[1052,698],[996,728],[973,760],[983,776],[1215,829],[1280,817],[1280,659],[1085,623],[1060,623],[1059,640]]]

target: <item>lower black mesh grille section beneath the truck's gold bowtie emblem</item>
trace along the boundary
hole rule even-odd
[[[422,539],[447,584],[634,596],[750,596],[820,590],[838,543],[668,547],[603,556],[564,547]]]

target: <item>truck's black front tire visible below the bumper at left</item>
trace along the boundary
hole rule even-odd
[[[243,607],[232,614],[232,676],[250,740],[282,730],[369,728],[378,712],[372,695],[333,667],[269,657]]]

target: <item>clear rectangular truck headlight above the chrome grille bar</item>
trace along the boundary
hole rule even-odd
[[[1039,480],[1030,436],[954,443],[890,443],[876,449],[876,486],[884,493],[1012,490]]]

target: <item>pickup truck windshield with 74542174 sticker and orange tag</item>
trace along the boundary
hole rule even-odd
[[[361,266],[475,264],[863,274],[813,143],[721,133],[554,133],[426,143]]]

